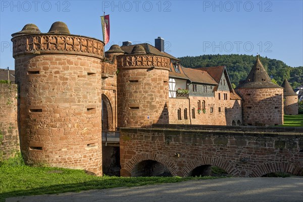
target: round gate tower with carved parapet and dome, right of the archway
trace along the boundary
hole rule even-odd
[[[117,56],[118,127],[168,124],[170,59],[146,54],[140,45]]]

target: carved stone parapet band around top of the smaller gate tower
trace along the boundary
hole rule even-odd
[[[149,68],[158,69],[170,68],[170,59],[167,57],[153,55],[120,55],[117,56],[118,68]]]

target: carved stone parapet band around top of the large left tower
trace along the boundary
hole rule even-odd
[[[104,43],[79,35],[25,34],[12,38],[13,57],[20,54],[72,54],[104,58]]]

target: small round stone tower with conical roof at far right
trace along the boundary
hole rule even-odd
[[[298,115],[298,95],[293,91],[286,78],[281,87],[284,88],[284,114]]]

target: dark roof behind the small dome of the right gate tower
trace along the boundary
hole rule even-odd
[[[150,44],[144,43],[144,44],[136,44],[136,45],[141,45],[146,54],[151,54],[151,55],[159,55],[159,56],[163,56],[163,57],[168,57],[171,60],[175,60],[175,61],[180,61],[178,58],[175,58],[174,56],[165,53],[165,52],[161,52],[158,49],[156,49],[156,47],[151,46]],[[136,45],[130,45],[130,46],[121,46],[120,48],[122,49],[122,51],[124,51],[126,54],[131,54],[132,49],[134,48],[134,46]]]

